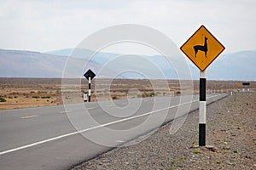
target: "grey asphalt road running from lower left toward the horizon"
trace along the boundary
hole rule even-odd
[[[227,95],[208,94],[207,103]],[[68,169],[185,117],[198,105],[198,96],[183,96],[0,111],[0,167]]]

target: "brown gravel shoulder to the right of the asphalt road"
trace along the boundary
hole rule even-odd
[[[195,147],[198,110],[175,134],[169,133],[171,123],[142,142],[110,150],[73,170],[256,169],[256,93],[234,94],[207,106],[211,150]]]

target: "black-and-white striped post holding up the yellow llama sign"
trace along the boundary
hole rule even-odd
[[[206,146],[207,71],[200,71],[199,91],[199,146]]]

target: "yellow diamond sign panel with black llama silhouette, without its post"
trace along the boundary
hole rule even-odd
[[[180,49],[201,71],[204,71],[224,51],[224,46],[205,26],[201,26]]]

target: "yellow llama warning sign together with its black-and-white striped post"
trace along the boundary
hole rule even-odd
[[[201,26],[180,48],[200,70],[199,146],[206,146],[207,67],[224,51],[224,46]]]

